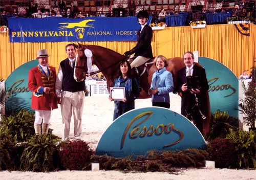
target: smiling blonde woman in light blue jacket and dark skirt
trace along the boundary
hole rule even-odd
[[[157,71],[153,74],[151,87],[148,94],[152,95],[152,105],[170,108],[169,93],[174,90],[174,81],[172,73],[166,70],[167,58],[158,55],[154,59]]]

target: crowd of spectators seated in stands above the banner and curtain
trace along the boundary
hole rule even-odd
[[[47,17],[67,17],[67,18],[84,18],[84,17],[128,17],[128,16],[136,16],[136,4],[133,0],[129,2],[127,8],[125,10],[120,9],[120,11],[109,11],[109,12],[84,12],[78,11],[78,8],[71,3],[71,6],[66,6],[64,1],[59,1],[58,9],[55,11],[48,12],[45,9],[39,8],[37,3],[33,3],[33,1],[29,2],[29,6],[27,9],[23,9],[23,12],[19,12],[18,9],[12,9],[11,12],[7,10],[3,10],[1,12],[0,25],[8,26],[7,19],[9,17],[27,17],[27,18],[47,18]],[[231,14],[231,17],[238,17],[242,20],[255,21],[256,19],[256,2],[254,2],[253,6],[249,6],[247,1],[241,1],[240,4],[236,4],[233,9],[222,7],[217,10],[207,10],[202,9],[199,12],[193,13],[191,15],[190,20],[206,20],[206,13],[213,12],[227,12]],[[160,11],[151,12],[150,15],[153,17],[153,22],[165,22],[165,16],[167,15],[178,15],[182,14],[183,11],[180,11],[179,6],[176,6],[175,9],[161,9]]]

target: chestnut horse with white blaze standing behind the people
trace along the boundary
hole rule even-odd
[[[107,81],[108,90],[110,92],[110,87],[114,85],[114,79],[118,76],[118,70],[120,68],[120,62],[127,57],[110,50],[108,48],[95,46],[95,45],[83,45],[78,43],[74,44],[77,48],[76,52],[76,62],[75,62],[75,69],[74,69],[74,78],[76,81],[81,81],[85,78],[84,75],[88,75],[88,67],[87,67],[87,57],[84,50],[90,50],[92,54],[90,56],[92,60],[92,64],[95,64],[99,72],[101,72]],[[153,59],[150,61],[152,62]],[[197,65],[201,66],[199,63],[195,62]],[[142,91],[140,92],[140,99],[151,98],[148,95],[147,91],[151,86],[152,75],[157,70],[155,64],[150,63],[147,64],[148,71],[140,76],[140,85],[142,87]],[[183,58],[175,57],[168,59],[168,66],[166,69],[172,73],[174,79],[174,89],[177,83],[177,73],[180,69],[184,68],[185,64],[183,62]],[[139,67],[139,71],[143,71],[144,65]],[[97,72],[98,73],[98,72]],[[174,93],[176,93],[174,91]],[[208,97],[208,93],[207,93]],[[205,115],[207,118],[207,123],[204,124],[205,131],[208,131],[209,127],[209,120],[210,120],[210,106],[209,106],[209,97],[205,100],[205,105],[208,106],[208,113]]]

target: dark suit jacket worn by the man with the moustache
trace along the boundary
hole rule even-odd
[[[194,70],[193,70],[193,76],[199,76],[201,89],[200,93],[197,94],[197,98],[199,100],[199,108],[202,111],[202,113],[206,116],[207,107],[205,107],[203,104],[203,101],[206,100],[206,92],[209,89],[208,81],[206,78],[205,70],[204,68],[201,68],[194,64]],[[181,92],[181,114],[185,116],[185,109],[190,110],[196,103],[195,101],[195,94],[191,94],[189,91],[183,92],[181,90],[181,86],[186,83],[186,67],[178,71],[177,74],[177,86],[176,91]]]

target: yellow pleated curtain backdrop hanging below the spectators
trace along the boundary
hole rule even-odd
[[[236,76],[250,71],[256,60],[256,25],[249,24],[250,36],[240,34],[234,25],[210,25],[202,29],[167,27],[153,33],[153,55],[167,58],[182,57],[186,51],[199,51],[199,56],[219,61]],[[0,33],[0,77],[6,79],[20,65],[35,59],[39,49],[47,49],[49,64],[58,69],[60,61],[67,58],[65,46],[71,42],[11,43],[7,33]],[[76,42],[74,42],[76,43]],[[112,49],[120,54],[132,49],[136,41],[79,42]],[[254,64],[255,65],[255,64]],[[212,67],[214,68],[214,67]]]

